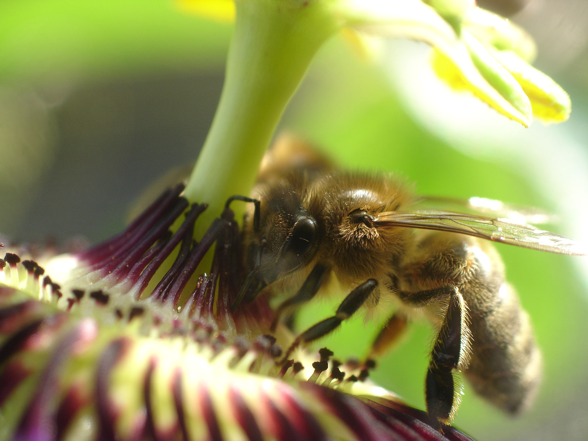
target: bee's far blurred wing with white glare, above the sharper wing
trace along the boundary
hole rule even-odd
[[[487,198],[443,198],[442,196],[424,196],[410,208],[416,210],[445,210],[482,215],[488,218],[500,218],[505,222],[527,225],[529,223],[557,223],[556,215],[538,208],[517,206]]]

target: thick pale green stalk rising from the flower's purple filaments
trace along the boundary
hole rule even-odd
[[[229,196],[249,194],[286,104],[316,51],[339,28],[330,0],[235,4],[225,85],[185,190],[189,201],[209,204],[196,223],[196,238]],[[234,208],[242,213],[244,206],[234,203]]]

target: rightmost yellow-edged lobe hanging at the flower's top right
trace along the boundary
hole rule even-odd
[[[549,76],[527,64],[513,51],[492,54],[521,85],[529,97],[533,115],[546,122],[566,121],[572,111],[570,96]]]

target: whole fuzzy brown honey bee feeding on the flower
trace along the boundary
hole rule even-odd
[[[499,254],[483,239],[586,255],[579,243],[529,225],[548,220],[542,212],[481,198],[422,198],[386,173],[339,171],[293,139],[266,154],[252,198],[234,199],[255,202],[243,227],[249,275],[235,305],[262,289],[292,292],[276,310],[279,319],[332,278],[351,290],[334,316],[296,338],[286,357],[362,306],[373,312],[395,303],[370,357],[382,356],[409,319],[433,323],[425,399],[438,428],[459,406],[456,371],[512,415],[532,400],[540,350]],[[446,209],[455,207],[466,212]]]

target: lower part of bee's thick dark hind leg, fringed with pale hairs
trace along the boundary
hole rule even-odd
[[[431,352],[425,382],[427,412],[437,429],[449,424],[459,407],[460,395],[456,394],[453,369],[462,370],[467,365],[469,329],[466,315],[462,295],[457,288],[451,287],[449,305]]]

